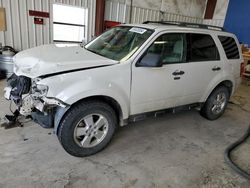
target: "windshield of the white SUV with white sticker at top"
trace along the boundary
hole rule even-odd
[[[124,61],[133,55],[152,33],[152,30],[139,27],[113,27],[85,48],[101,56]]]

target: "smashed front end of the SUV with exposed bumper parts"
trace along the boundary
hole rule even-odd
[[[54,127],[55,114],[68,105],[59,99],[47,97],[48,87],[39,85],[40,79],[30,79],[13,74],[7,80],[4,97],[16,104],[23,116],[31,117],[44,128]]]

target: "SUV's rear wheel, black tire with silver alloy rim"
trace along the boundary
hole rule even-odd
[[[225,111],[229,100],[229,90],[225,86],[216,88],[201,109],[201,115],[209,120],[218,119]]]

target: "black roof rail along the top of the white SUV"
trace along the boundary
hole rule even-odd
[[[209,29],[209,30],[217,30],[217,31],[225,31],[223,27],[214,26],[214,25],[206,25],[206,24],[198,24],[198,23],[188,23],[188,22],[178,22],[178,21],[145,21],[143,24],[163,24],[163,25],[175,25],[179,27],[189,27],[189,28],[200,28],[200,29]]]

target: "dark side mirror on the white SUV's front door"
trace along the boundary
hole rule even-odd
[[[155,53],[147,53],[137,64],[137,67],[161,67],[161,56]]]

